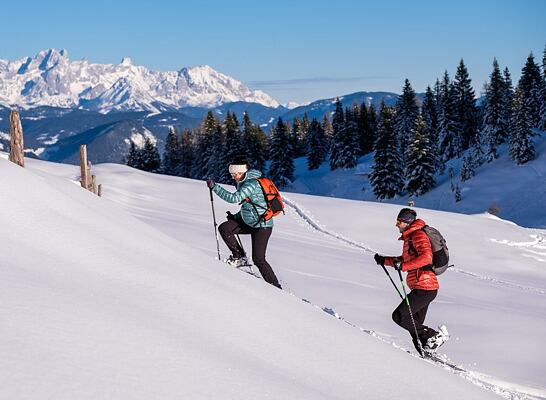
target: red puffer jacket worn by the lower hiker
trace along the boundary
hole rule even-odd
[[[402,271],[407,272],[406,282],[410,289],[437,290],[438,279],[432,271],[423,271],[422,267],[432,264],[432,247],[427,234],[422,231],[425,221],[417,219],[410,227],[402,233],[398,240],[404,241],[402,255],[396,257],[402,261]],[[413,234],[413,235],[412,235]],[[409,238],[412,236],[415,251],[410,251]],[[393,265],[394,257],[386,257],[385,265]]]

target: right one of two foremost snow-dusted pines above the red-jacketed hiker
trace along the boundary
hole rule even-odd
[[[434,187],[435,161],[425,122],[423,117],[418,115],[413,125],[406,158],[406,189],[410,196],[420,196]]]

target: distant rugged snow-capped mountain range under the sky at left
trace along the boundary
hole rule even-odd
[[[266,93],[250,90],[207,65],[160,72],[135,66],[127,57],[117,65],[70,61],[66,50],[55,49],[33,58],[0,60],[0,104],[106,113],[215,107],[234,101],[279,106]]]

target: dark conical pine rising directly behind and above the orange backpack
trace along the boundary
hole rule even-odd
[[[271,159],[269,178],[279,188],[288,186],[294,180],[294,160],[290,151],[286,151],[289,146],[289,131],[282,118],[279,117],[277,125],[271,131],[269,146]]]

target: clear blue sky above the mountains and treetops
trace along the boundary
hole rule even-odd
[[[1,59],[56,48],[163,71],[208,64],[282,103],[400,92],[405,78],[424,91],[461,58],[479,92],[493,57],[515,80],[546,45],[545,0],[25,1],[0,15]]]

